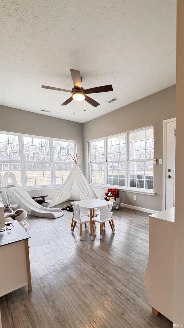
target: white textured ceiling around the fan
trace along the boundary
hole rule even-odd
[[[175,84],[175,0],[1,0],[1,104],[86,122]],[[73,101],[70,68],[84,89],[112,84]],[[106,101],[116,97],[113,103]],[[45,115],[45,114],[44,114]],[[116,118],[117,119],[117,118]]]

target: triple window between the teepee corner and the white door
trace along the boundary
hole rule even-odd
[[[89,142],[92,184],[153,191],[153,127]]]

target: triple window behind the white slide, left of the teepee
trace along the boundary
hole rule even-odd
[[[63,184],[75,152],[75,141],[0,133],[1,174],[12,171],[23,187]]]

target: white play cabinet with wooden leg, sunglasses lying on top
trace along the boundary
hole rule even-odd
[[[6,222],[8,223],[8,222]],[[30,236],[17,221],[10,221],[0,232],[0,296],[28,285],[31,290],[28,238]]]

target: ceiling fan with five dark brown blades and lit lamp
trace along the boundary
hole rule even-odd
[[[87,93],[113,91],[113,88],[112,88],[111,84],[84,90],[83,87],[81,87],[82,77],[81,77],[80,71],[70,69],[70,72],[71,72],[72,80],[73,80],[73,83],[74,83],[74,88],[72,88],[71,91],[70,90],[65,90],[65,89],[60,89],[60,88],[48,87],[46,85],[42,85],[42,88],[45,88],[45,89],[71,92],[71,94],[72,94],[71,97],[68,98],[67,100],[65,100],[64,103],[61,104],[61,106],[65,106],[65,105],[69,104],[74,99],[74,100],[77,100],[77,101],[85,100],[90,105],[92,105],[94,107],[97,107],[100,104],[97,101],[95,101],[94,99],[88,97],[86,94]]]

